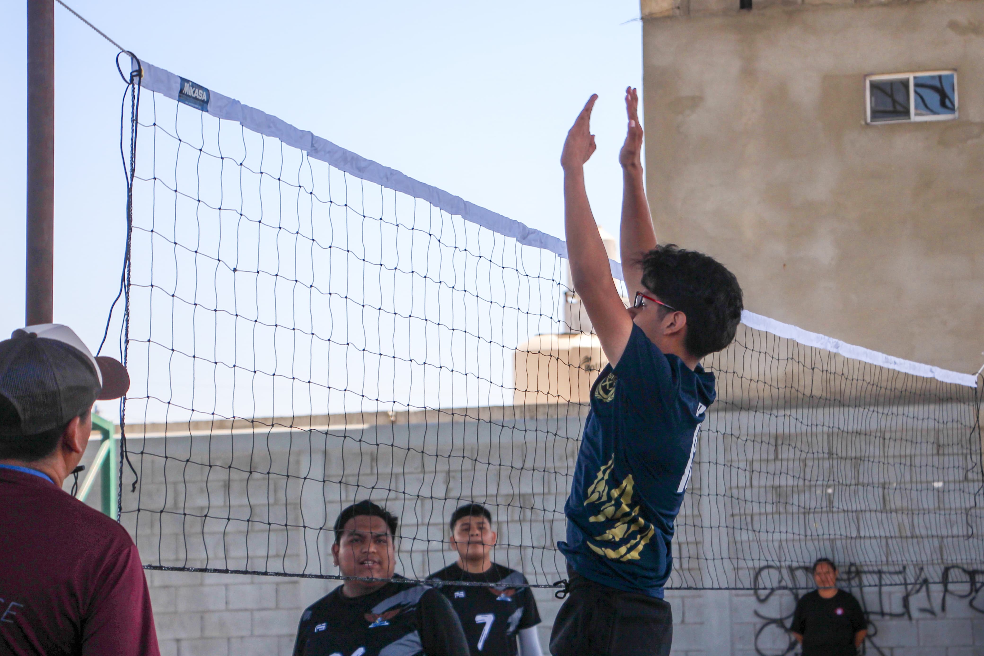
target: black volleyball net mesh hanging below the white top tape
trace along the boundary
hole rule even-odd
[[[335,577],[335,517],[370,499],[400,515],[409,578],[454,562],[447,520],[471,502],[497,562],[563,578],[604,365],[565,261],[159,92],[140,102],[120,507],[149,567]],[[766,586],[820,556],[934,579],[975,562],[975,388],[745,326],[705,366],[718,401],[669,587]]]

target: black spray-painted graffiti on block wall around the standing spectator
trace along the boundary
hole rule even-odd
[[[789,595],[791,606],[795,608],[799,598],[809,592],[813,585],[813,574],[808,566],[760,567],[755,574],[755,598],[760,604],[765,604],[775,595]],[[984,569],[947,566],[940,581],[931,583],[922,568],[878,569],[851,564],[839,572],[837,587],[850,592],[861,602],[868,621],[865,653],[881,656],[885,656],[886,652],[878,645],[878,620],[905,619],[911,622],[914,618],[935,618],[946,614],[947,606],[954,603],[967,604],[974,611],[984,614]],[[900,595],[897,594],[899,592]],[[793,611],[772,617],[757,609],[755,616],[763,621],[755,632],[755,650],[759,656],[786,656],[796,650],[799,643],[789,630]],[[782,651],[768,651],[768,647],[760,645],[767,636],[774,635],[774,631],[781,631],[787,639]]]

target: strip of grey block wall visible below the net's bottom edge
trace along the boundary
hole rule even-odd
[[[290,656],[296,626],[308,605],[336,581],[148,571],[162,656]],[[984,573],[977,574],[980,581]],[[853,590],[868,606],[867,654],[979,656],[984,653],[980,599],[968,586],[916,590]],[[979,589],[979,586],[978,586]],[[726,590],[666,593],[673,609],[674,656],[783,656],[797,654],[783,628],[795,608],[792,593]],[[548,652],[550,627],[562,602],[537,590]],[[946,609],[942,607],[946,599]],[[884,605],[881,605],[884,604]],[[908,607],[908,611],[906,611]]]

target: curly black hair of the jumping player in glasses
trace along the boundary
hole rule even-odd
[[[657,246],[639,264],[646,289],[687,315],[684,345],[691,355],[703,358],[731,343],[744,308],[734,273],[676,244]]]

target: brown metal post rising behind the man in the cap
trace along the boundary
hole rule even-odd
[[[27,326],[50,324],[53,317],[54,156],[54,0],[28,0]]]

